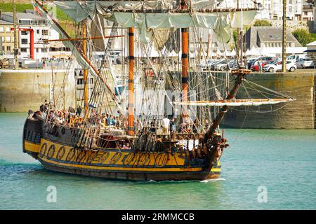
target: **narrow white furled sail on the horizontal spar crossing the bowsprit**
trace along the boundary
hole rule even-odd
[[[223,99],[211,101],[173,102],[175,105],[187,106],[261,106],[292,102],[295,99]]]

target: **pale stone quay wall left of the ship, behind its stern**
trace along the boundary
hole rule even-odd
[[[45,100],[50,102],[52,76],[55,102],[66,109],[73,106],[76,83],[71,70],[53,70],[52,75],[51,69],[1,69],[0,112],[27,112],[39,109]]]

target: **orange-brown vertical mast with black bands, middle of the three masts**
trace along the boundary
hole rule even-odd
[[[134,134],[134,28],[129,28],[129,135]]]

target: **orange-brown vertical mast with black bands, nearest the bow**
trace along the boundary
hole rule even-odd
[[[186,0],[181,0],[181,9],[185,10],[187,8]],[[188,85],[188,68],[189,68],[189,51],[188,51],[188,36],[189,31],[188,28],[181,29],[181,37],[182,37],[182,101],[187,102],[187,91],[189,89]],[[183,122],[187,121],[187,106],[183,106],[182,118]]]

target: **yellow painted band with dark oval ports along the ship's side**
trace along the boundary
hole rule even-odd
[[[84,151],[46,139],[41,139],[38,158],[57,167],[100,172],[203,172],[203,167],[186,167],[184,154],[181,153],[133,153],[117,149]],[[219,174],[219,162],[211,169],[213,172]]]

